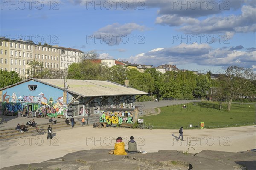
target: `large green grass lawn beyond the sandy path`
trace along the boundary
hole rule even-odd
[[[219,110],[219,102],[187,103],[186,109],[182,105],[161,107],[158,115],[140,117],[144,122],[151,123],[154,128],[177,129],[189,127],[189,124],[198,126],[198,122],[204,122],[205,128],[230,127],[253,125],[255,123],[255,104],[232,103],[231,110],[227,111],[227,103],[222,103]],[[228,126],[227,126],[228,125]],[[200,126],[200,123],[199,123]]]

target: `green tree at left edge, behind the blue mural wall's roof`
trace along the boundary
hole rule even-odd
[[[20,82],[21,78],[15,71],[2,71],[0,70],[0,88],[4,88],[9,85],[13,85]]]

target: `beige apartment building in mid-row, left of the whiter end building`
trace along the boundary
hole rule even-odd
[[[42,62],[44,68],[60,68],[60,48],[51,45],[35,44],[35,60]]]

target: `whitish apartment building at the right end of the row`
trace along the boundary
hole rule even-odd
[[[73,48],[59,47],[60,48],[60,68],[67,69],[72,63],[79,63],[82,60],[83,52]]]

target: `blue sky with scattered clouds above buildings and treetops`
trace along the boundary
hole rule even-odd
[[[255,0],[0,0],[0,35],[155,67],[256,71]]]

